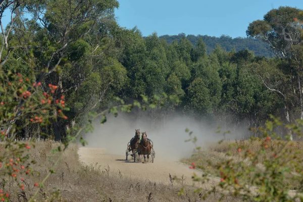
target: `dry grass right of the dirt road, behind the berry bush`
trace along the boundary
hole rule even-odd
[[[193,154],[190,158],[184,158],[181,162],[190,165],[192,162],[196,164],[196,166],[200,167],[205,173],[208,173],[212,176],[220,177],[220,172],[214,168],[214,165],[217,163],[224,162],[229,159],[233,159],[234,162],[246,162],[247,165],[250,165],[250,162],[247,159],[243,159],[238,152],[238,148],[243,149],[242,153],[245,150],[250,150],[250,152],[256,153],[261,147],[264,147],[264,141],[247,141],[247,140],[235,140],[234,142],[222,142],[220,144],[214,143],[211,144],[208,148],[200,150],[199,152]],[[266,159],[272,158],[272,154],[281,154],[282,151],[284,153],[283,158],[280,159],[281,165],[283,162],[287,162],[289,159],[293,158],[294,155],[298,152],[301,152],[303,149],[303,142],[289,142],[289,141],[281,141],[281,140],[271,140],[267,142],[268,145],[268,154],[260,155],[258,158],[259,163],[257,167],[260,170],[264,170],[263,162]],[[274,150],[275,152],[272,152]],[[229,154],[229,155],[226,155]],[[285,155],[286,154],[286,155]],[[297,158],[297,163],[303,167],[303,161],[300,161],[300,158]],[[286,163],[287,164],[287,163]],[[291,168],[294,169],[294,168]],[[302,190],[301,183],[298,180],[294,180],[294,175],[296,175],[293,170],[292,174],[286,174],[286,178],[284,180],[285,186],[289,187],[289,189],[294,190]],[[241,182],[247,182],[247,176],[240,177],[238,180]]]

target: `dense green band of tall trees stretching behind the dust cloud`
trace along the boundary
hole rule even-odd
[[[68,119],[51,121],[41,133],[59,140],[66,126],[82,126],[89,112],[115,105],[116,96],[140,102],[141,94],[163,92],[178,95],[180,102],[146,116],[161,119],[177,112],[230,126],[245,121],[247,128],[264,125],[270,114],[288,123],[303,119],[303,46],[301,26],[294,20],[303,20],[301,10],[269,11],[264,20],[249,24],[250,39],[182,35],[167,41],[170,37],[143,37],[137,28],[119,27],[118,6],[116,0],[11,0],[2,5],[0,14],[8,9],[13,14],[1,38],[2,70],[41,82],[40,93],[33,95],[37,99],[49,84],[58,86],[54,99],[64,95],[70,108]],[[22,130],[24,136],[36,128]]]

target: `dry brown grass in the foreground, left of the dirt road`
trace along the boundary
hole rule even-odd
[[[39,176],[19,176],[25,179],[25,190],[22,191],[12,179],[9,184],[2,185],[5,191],[11,193],[11,201],[28,201],[34,191],[35,182],[40,182],[53,166],[58,154],[51,154],[52,148],[58,143],[37,142],[36,148],[30,149],[31,157],[37,162],[33,169],[40,173]],[[185,187],[185,194],[178,196],[181,185],[164,185],[154,182],[138,181],[127,178],[120,173],[107,171],[98,165],[83,166],[79,162],[78,147],[69,146],[61,159],[56,173],[45,182],[45,187],[40,188],[36,201],[200,201],[204,193],[194,193],[193,187]],[[48,196],[54,190],[61,190],[63,200],[49,200]],[[218,194],[212,194],[207,201],[217,201]],[[232,197],[225,201],[241,201]]]

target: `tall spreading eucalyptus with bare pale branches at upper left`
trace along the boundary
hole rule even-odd
[[[114,9],[118,6],[115,0],[44,0],[26,5],[32,21],[36,22],[32,23],[35,24],[35,29],[30,30],[32,33],[30,36],[18,34],[22,24],[16,23],[15,30],[18,38],[21,37],[18,40],[19,44],[25,46],[27,50],[33,49],[27,57],[34,64],[34,69],[41,72],[36,74],[34,84],[42,82],[42,89],[47,89],[49,84],[58,86],[54,92],[56,100],[67,90],[75,89],[79,80],[84,82],[85,78],[82,77],[74,79],[73,86],[65,84],[65,73],[70,72],[69,68],[79,68],[79,65],[73,62],[81,56],[87,56],[89,51],[90,55],[106,53],[108,47],[98,44],[102,43],[102,39],[96,38],[98,42],[89,43],[85,41],[85,37],[93,34],[96,28],[103,29],[102,26],[105,26],[106,21],[113,21]],[[80,74],[76,75],[76,77],[79,76]],[[56,113],[57,111],[54,111],[54,114]],[[68,123],[67,120],[61,120],[61,122],[53,120],[56,140],[60,140],[63,125]]]

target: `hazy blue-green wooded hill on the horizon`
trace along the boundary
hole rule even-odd
[[[274,54],[269,51],[268,45],[262,40],[253,39],[253,38],[243,38],[237,37],[232,38],[230,36],[222,35],[221,37],[208,36],[208,35],[185,35],[180,33],[178,35],[163,35],[160,36],[160,39],[165,39],[167,43],[172,43],[174,40],[180,40],[185,36],[192,44],[196,44],[200,37],[203,38],[203,41],[206,43],[207,53],[211,53],[212,50],[216,47],[216,44],[220,44],[226,51],[231,51],[233,47],[236,48],[236,51],[241,51],[248,48],[250,51],[255,53],[255,56],[264,56],[264,57],[274,57]]]

